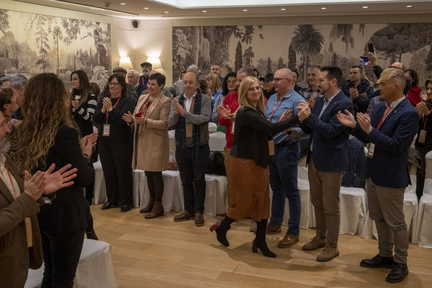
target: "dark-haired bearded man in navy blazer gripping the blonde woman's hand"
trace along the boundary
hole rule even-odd
[[[353,113],[353,102],[339,89],[343,73],[339,67],[321,69],[318,87],[321,95],[311,115],[301,123],[305,133],[313,131],[308,152],[308,178],[314,205],[317,236],[303,245],[304,250],[324,247],[317,261],[339,256],[339,193],[344,171],[348,170],[348,127],[337,120],[338,111]]]

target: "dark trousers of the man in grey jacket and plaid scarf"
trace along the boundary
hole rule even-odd
[[[210,157],[209,144],[198,150],[198,162],[194,161],[192,147],[175,150],[181,182],[183,184],[184,210],[190,213],[204,212],[206,199],[205,170]]]

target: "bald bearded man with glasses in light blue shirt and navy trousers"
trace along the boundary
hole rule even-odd
[[[283,112],[292,109],[297,114],[297,105],[305,100],[292,88],[293,76],[289,69],[277,70],[273,76],[275,94],[267,102],[266,117],[270,122],[278,122]],[[270,186],[273,190],[270,223],[266,234],[280,234],[285,212],[285,199],[289,203],[288,231],[279,242],[280,248],[291,247],[299,242],[300,233],[300,193],[297,187],[297,167],[299,165],[299,137],[303,131],[299,125],[289,128],[283,133],[273,135],[274,157],[269,164]],[[306,138],[308,136],[305,136]]]

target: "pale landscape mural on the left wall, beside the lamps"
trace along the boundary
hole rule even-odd
[[[102,88],[111,71],[111,24],[0,9],[0,74],[28,78],[86,71]]]

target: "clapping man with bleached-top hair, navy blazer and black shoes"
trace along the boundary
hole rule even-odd
[[[410,184],[407,161],[411,142],[419,123],[419,114],[403,95],[405,75],[390,68],[378,80],[381,98],[372,116],[357,113],[357,122],[350,113],[338,119],[352,127],[351,134],[369,142],[367,180],[369,215],[378,232],[378,255],[364,259],[360,266],[388,268],[386,281],[397,283],[408,275],[408,231],[403,215],[403,195]],[[393,257],[394,247],[394,257]]]

